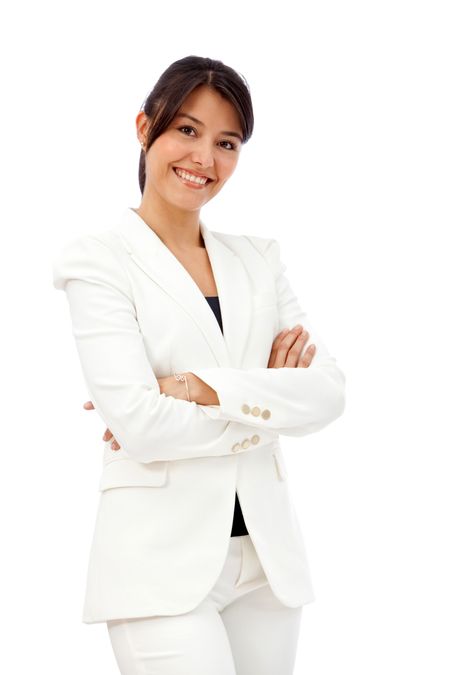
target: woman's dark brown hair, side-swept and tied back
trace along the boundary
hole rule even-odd
[[[144,193],[145,153],[172,122],[187,96],[199,85],[215,89],[234,105],[242,127],[243,143],[253,133],[253,106],[246,79],[222,61],[186,56],[174,61],[160,76],[141,110],[150,118],[146,146],[139,158],[139,186]]]

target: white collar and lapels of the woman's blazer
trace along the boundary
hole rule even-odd
[[[220,233],[209,230],[202,219],[199,224],[217,286],[223,335],[194,279],[139,214],[128,207],[114,231],[120,236],[136,265],[197,324],[217,365],[239,368],[250,331],[250,282],[240,257],[220,239]]]

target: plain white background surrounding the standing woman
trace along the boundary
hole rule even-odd
[[[448,675],[446,4],[3,5],[2,672],[118,672],[81,623],[104,425],[51,260],[139,205],[136,115],[195,54],[242,73],[255,112],[202,217],[280,241],[347,376],[343,417],[282,439],[316,593],[295,672]]]

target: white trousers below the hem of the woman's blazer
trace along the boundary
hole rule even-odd
[[[244,535],[230,537],[217,582],[190,612],[107,626],[121,675],[292,675],[301,612],[275,597]]]

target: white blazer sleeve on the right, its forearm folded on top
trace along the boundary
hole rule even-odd
[[[345,408],[345,376],[337,366],[300,307],[285,276],[275,239],[249,237],[264,256],[274,275],[279,332],[301,324],[309,332],[316,352],[308,368],[200,368],[192,372],[215,389],[219,406],[216,419],[271,429],[285,436],[304,436],[319,431],[338,418]]]

